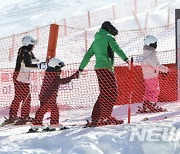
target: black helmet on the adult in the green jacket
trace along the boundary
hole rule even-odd
[[[103,22],[101,28],[107,30],[110,34],[114,36],[118,35],[118,30],[111,24],[110,21]]]

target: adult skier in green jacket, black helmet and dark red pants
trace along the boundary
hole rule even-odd
[[[99,32],[95,34],[95,40],[86,52],[77,71],[80,75],[90,58],[95,55],[95,71],[100,94],[92,111],[92,122],[87,122],[87,127],[123,123],[122,120],[117,120],[111,115],[117,100],[117,85],[113,72],[114,52],[128,63],[127,56],[114,38],[116,35],[118,35],[118,30],[111,22],[105,21],[101,25]]]

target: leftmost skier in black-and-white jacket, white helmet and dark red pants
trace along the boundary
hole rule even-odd
[[[15,96],[10,105],[9,118],[4,121],[4,124],[15,121],[16,124],[25,124],[30,120],[30,72],[33,68],[46,67],[45,62],[38,63],[38,59],[35,58],[32,52],[36,44],[37,40],[31,36],[25,36],[22,39],[23,46],[18,50],[15,71],[13,73]],[[21,102],[21,117],[18,118],[17,112]]]

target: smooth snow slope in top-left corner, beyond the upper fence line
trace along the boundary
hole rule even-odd
[[[0,37],[31,30],[123,0],[3,0]],[[78,8],[78,9],[77,9]]]

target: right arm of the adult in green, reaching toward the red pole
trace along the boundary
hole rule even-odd
[[[115,38],[111,35],[107,35],[107,40],[111,46],[111,49],[122,58],[124,61],[128,61],[127,56],[125,55],[124,51],[119,47],[118,43],[116,42]]]

